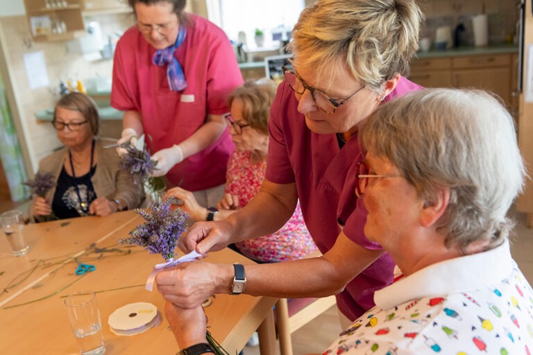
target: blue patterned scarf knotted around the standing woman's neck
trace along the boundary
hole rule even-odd
[[[187,35],[187,29],[180,26],[176,43],[165,49],[159,49],[153,54],[153,64],[159,65],[160,67],[167,64],[167,79],[169,80],[170,89],[174,92],[180,92],[187,87],[180,62],[174,58],[174,51],[185,41],[185,35]]]

